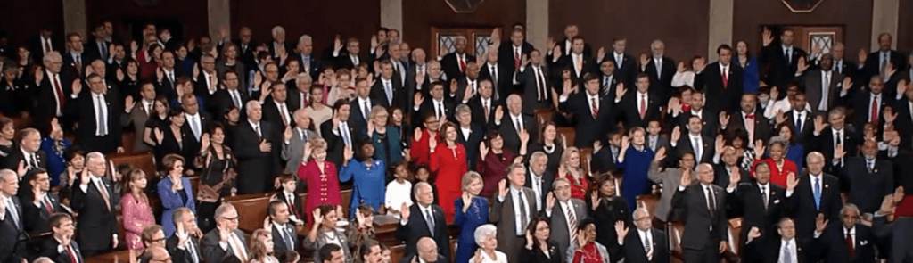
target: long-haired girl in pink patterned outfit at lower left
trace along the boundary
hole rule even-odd
[[[124,182],[123,197],[121,198],[121,210],[123,212],[123,230],[124,240],[127,243],[127,249],[142,250],[142,228],[155,225],[155,218],[152,217],[152,207],[149,206],[149,198],[142,191],[146,189],[146,173],[140,169],[134,169],[127,174]]]

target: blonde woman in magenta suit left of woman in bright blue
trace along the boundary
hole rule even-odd
[[[336,165],[327,161],[327,141],[316,138],[308,143],[310,147],[304,149],[298,178],[308,183],[308,200],[304,202],[304,211],[308,216],[303,217],[313,220],[310,213],[317,205],[340,205],[342,198]]]

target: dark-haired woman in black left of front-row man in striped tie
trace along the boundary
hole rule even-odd
[[[617,171],[609,172],[599,176],[596,183],[597,188],[586,198],[586,207],[590,217],[596,222],[596,242],[609,248],[609,251],[616,251],[618,248],[618,236],[615,234],[614,222],[624,221],[624,226],[633,226],[631,221],[631,209],[628,208],[627,201],[622,195],[618,195],[618,188],[615,178],[620,178],[621,173]]]

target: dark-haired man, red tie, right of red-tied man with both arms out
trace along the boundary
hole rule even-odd
[[[619,117],[624,118],[628,127],[646,127],[648,120],[658,120],[660,102],[656,93],[651,91],[650,77],[644,73],[637,75],[635,92],[626,89],[615,89],[615,105],[619,107]]]

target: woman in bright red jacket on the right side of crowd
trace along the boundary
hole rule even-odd
[[[767,150],[770,150],[769,157],[761,159],[764,156],[764,142],[761,140],[754,142],[754,163],[751,164],[751,174],[754,174],[754,166],[758,163],[767,163],[767,166],[771,167],[771,183],[786,187],[787,175],[799,175],[796,163],[786,159],[789,145],[789,141],[783,137],[771,137],[771,141],[767,142]]]

